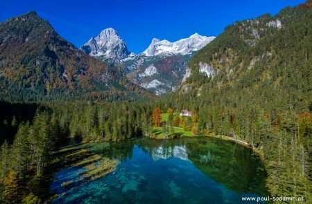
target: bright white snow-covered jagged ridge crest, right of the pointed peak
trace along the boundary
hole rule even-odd
[[[157,55],[189,55],[193,51],[200,50],[216,37],[206,37],[195,33],[188,38],[180,39],[178,41],[170,42],[166,39],[159,40],[153,38],[142,55],[157,56]]]

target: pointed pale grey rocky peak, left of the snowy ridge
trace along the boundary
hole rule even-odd
[[[113,28],[106,28],[80,48],[87,55],[112,62],[120,62],[130,55],[127,46]]]

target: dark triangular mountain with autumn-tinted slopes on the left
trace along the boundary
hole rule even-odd
[[[118,68],[60,37],[35,12],[0,24],[0,88],[0,100],[8,101],[133,100],[150,95]]]

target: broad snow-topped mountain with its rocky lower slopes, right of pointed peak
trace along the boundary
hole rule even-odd
[[[180,86],[193,53],[215,38],[197,33],[175,42],[154,38],[143,53],[123,59],[119,66],[132,82],[156,95],[164,95]]]

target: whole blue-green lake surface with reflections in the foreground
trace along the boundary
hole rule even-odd
[[[51,184],[52,203],[250,203],[265,196],[266,172],[251,149],[216,138],[180,138],[86,144],[88,151],[116,160],[116,170],[80,180],[83,167],[60,169]],[[77,180],[69,188],[61,184]]]

